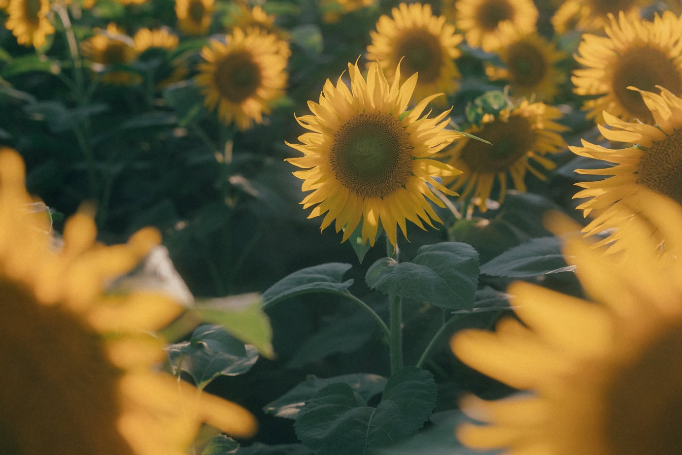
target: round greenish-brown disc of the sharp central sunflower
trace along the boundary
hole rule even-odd
[[[364,197],[385,197],[412,175],[412,146],[390,114],[361,113],[334,134],[329,163],[346,188]]]

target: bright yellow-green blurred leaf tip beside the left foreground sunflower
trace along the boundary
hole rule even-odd
[[[256,293],[231,295],[196,302],[194,312],[203,321],[220,324],[246,344],[253,344],[265,357],[273,357],[272,327]]]

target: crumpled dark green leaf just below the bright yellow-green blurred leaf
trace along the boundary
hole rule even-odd
[[[243,344],[216,324],[196,327],[189,341],[170,344],[166,351],[175,374],[188,372],[200,389],[218,376],[242,375],[258,360],[254,346]]]

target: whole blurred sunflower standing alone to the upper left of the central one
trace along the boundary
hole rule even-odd
[[[263,113],[269,114],[271,104],[284,94],[288,78],[276,35],[234,29],[225,43],[211,40],[201,56],[206,62],[198,65],[196,83],[203,87],[207,108],[218,106],[218,117],[240,130],[254,121],[263,123]]]

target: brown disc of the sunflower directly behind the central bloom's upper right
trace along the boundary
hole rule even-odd
[[[438,38],[425,30],[405,33],[396,45],[398,58],[405,57],[406,74],[419,73],[419,83],[431,83],[438,79],[443,53]]]

